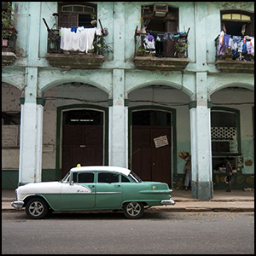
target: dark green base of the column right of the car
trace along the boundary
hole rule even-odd
[[[213,183],[192,181],[192,197],[199,201],[210,201],[213,197]]]

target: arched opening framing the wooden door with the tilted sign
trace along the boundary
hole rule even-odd
[[[143,84],[130,91],[129,167],[143,180],[181,185],[185,162],[177,152],[190,152],[189,102],[190,96],[172,84]]]

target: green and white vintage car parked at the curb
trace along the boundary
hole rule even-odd
[[[144,207],[174,205],[166,183],[143,182],[122,167],[74,167],[59,182],[27,183],[15,189],[12,207],[26,207],[30,218],[53,211],[123,209],[126,218],[141,218]]]

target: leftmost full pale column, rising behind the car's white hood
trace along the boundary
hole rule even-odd
[[[38,68],[26,68],[25,97],[20,98],[19,185],[42,180],[43,112],[45,100],[37,97]]]

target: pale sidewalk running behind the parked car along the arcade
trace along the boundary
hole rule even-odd
[[[18,212],[11,207],[15,201],[15,190],[2,190],[2,212]],[[174,206],[151,207],[150,212],[254,212],[254,191],[214,190],[211,201],[198,201],[192,198],[191,190],[173,190]],[[24,211],[24,210],[22,210]]]

